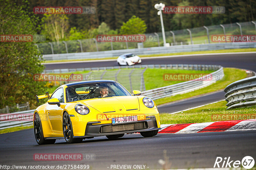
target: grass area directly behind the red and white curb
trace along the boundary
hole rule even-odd
[[[244,120],[255,119],[256,106],[250,108],[237,108],[226,110],[227,102],[209,104],[200,108],[183,111],[176,114],[160,114],[161,124],[187,124],[187,123],[203,123],[227,120]],[[251,117],[243,118],[243,115],[250,114]],[[253,116],[252,116],[253,115]],[[237,117],[234,117],[237,116]]]

